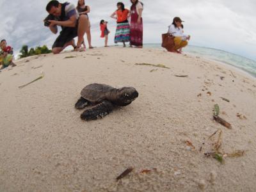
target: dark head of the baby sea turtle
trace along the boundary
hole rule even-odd
[[[133,87],[124,87],[117,91],[116,96],[116,104],[119,106],[127,106],[139,96],[139,93]]]

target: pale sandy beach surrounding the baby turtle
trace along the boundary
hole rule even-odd
[[[195,56],[120,47],[16,64],[0,72],[0,191],[255,190],[255,78]],[[85,122],[74,104],[90,83],[140,96]],[[232,129],[212,120],[214,104]],[[216,143],[223,163],[204,154]]]

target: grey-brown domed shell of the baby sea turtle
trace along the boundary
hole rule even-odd
[[[115,88],[107,84],[88,84],[81,91],[81,96],[92,103],[100,103],[102,102],[102,100],[108,100],[106,97],[106,93],[109,93],[111,92],[111,90],[114,89]]]

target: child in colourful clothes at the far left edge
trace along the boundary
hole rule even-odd
[[[0,42],[0,69],[6,68],[9,65],[12,65],[12,67],[15,66],[15,64],[12,62],[13,60],[13,49],[10,46],[7,46],[6,40],[1,40]]]

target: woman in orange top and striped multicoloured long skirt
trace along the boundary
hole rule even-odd
[[[124,3],[117,3],[117,10],[110,16],[116,19],[116,34],[115,34],[115,44],[122,42],[124,47],[126,47],[125,42],[130,42],[130,25],[128,17],[130,17],[130,11],[125,9]]]

